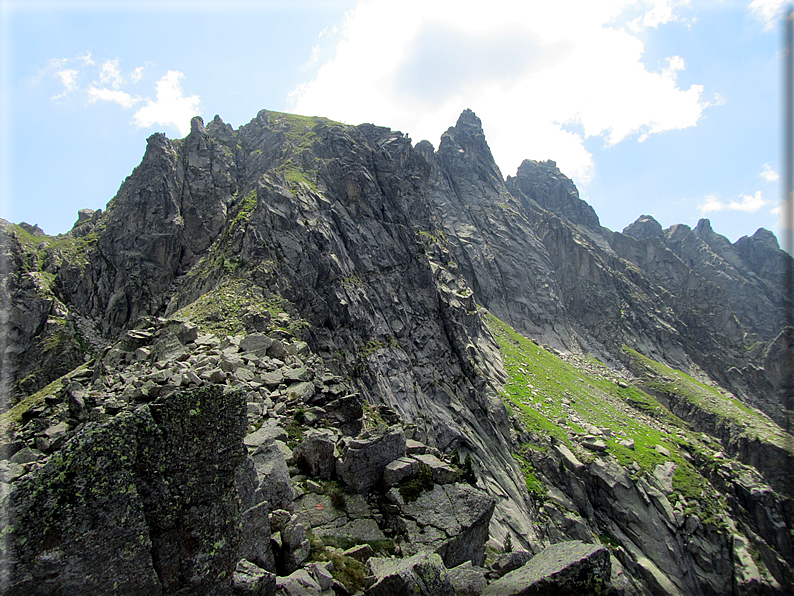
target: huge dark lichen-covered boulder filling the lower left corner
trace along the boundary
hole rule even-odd
[[[230,593],[246,424],[206,387],[88,425],[0,503],[3,593]]]

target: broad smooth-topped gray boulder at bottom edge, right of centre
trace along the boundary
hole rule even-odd
[[[483,596],[582,596],[609,587],[609,551],[574,540],[553,544],[490,584]]]

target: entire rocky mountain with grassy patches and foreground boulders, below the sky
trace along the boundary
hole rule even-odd
[[[0,223],[4,594],[791,593],[767,230],[611,231],[470,110],[197,117]]]

